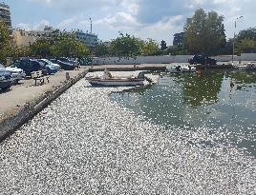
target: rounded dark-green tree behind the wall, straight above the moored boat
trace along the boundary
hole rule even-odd
[[[110,52],[119,57],[136,56],[139,54],[139,39],[127,33],[119,33],[117,39],[111,41]]]

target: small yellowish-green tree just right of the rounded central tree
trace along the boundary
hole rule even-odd
[[[140,48],[141,54],[146,56],[157,55],[160,53],[158,43],[153,39],[148,39],[147,41],[141,41],[139,48]]]

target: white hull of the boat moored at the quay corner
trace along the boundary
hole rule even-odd
[[[122,87],[143,86],[144,79],[87,79],[92,86]]]

